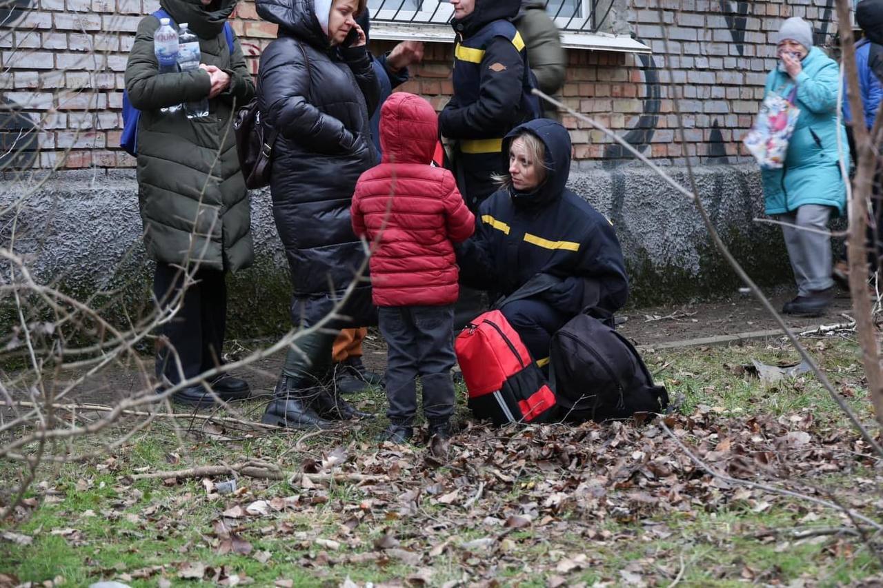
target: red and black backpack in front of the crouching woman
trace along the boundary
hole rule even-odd
[[[472,320],[457,335],[454,349],[476,417],[495,425],[555,418],[555,394],[500,311]]]

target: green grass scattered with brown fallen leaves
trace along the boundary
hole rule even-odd
[[[811,342],[811,347],[834,385],[849,390],[849,402],[862,418],[870,418],[856,345],[826,339]],[[723,367],[724,364],[749,364],[751,358],[775,364],[796,361],[796,354],[777,343],[760,343],[658,352],[648,354],[646,360],[651,371],[658,372],[657,380],[668,386],[673,398],[683,395],[680,411],[684,415],[697,410],[713,411],[714,418],[718,419],[715,422],[729,426],[754,415],[787,420],[792,415],[811,411],[813,426],[821,427],[819,430],[846,427],[834,401],[809,375],[765,389],[756,378]],[[377,391],[358,397],[357,402],[373,406],[375,410],[382,410],[383,406]],[[465,421],[467,415],[461,403],[457,407],[457,418]],[[878,560],[855,537],[789,539],[788,531],[792,529],[843,526],[844,521],[834,511],[757,494],[750,501],[736,499],[732,490],[713,488],[708,491],[707,501],[694,498],[682,510],[632,509],[627,514],[617,514],[615,509],[600,502],[595,510],[570,505],[551,516],[552,520],[543,521],[547,511],[540,504],[535,507],[540,510],[540,516],[525,529],[506,530],[485,523],[486,516],[505,520],[508,512],[515,512],[532,501],[541,501],[552,492],[544,489],[548,485],[568,487],[566,480],[570,474],[562,466],[556,471],[527,471],[510,486],[487,486],[475,502],[477,514],[458,504],[434,503],[437,494],[430,494],[428,490],[434,484],[443,485],[444,492],[449,492],[457,487],[458,479],[464,479],[469,483],[464,482],[462,492],[472,496],[477,479],[472,471],[482,472],[484,479],[493,481],[493,477],[487,475],[488,468],[492,467],[491,452],[504,452],[509,447],[506,435],[517,433],[509,430],[499,438],[502,441],[492,440],[499,442],[500,449],[486,451],[475,447],[474,455],[463,463],[440,468],[422,464],[422,448],[404,449],[399,452],[400,456],[383,454],[384,471],[396,463],[402,468],[398,479],[392,482],[397,485],[396,490],[389,495],[375,495],[347,484],[305,490],[291,488],[285,481],[240,479],[240,486],[246,488],[245,494],[209,501],[197,479],[176,486],[166,486],[158,479],[134,483],[127,479],[145,468],[149,471],[179,469],[249,457],[272,461],[283,452],[286,452],[281,464],[283,469],[297,471],[305,460],[321,461],[331,449],[340,446],[347,448],[351,456],[369,459],[377,452],[373,440],[383,426],[383,419],[378,418],[343,433],[313,438],[306,442],[306,449],[292,450],[302,433],[245,441],[216,441],[206,435],[186,433],[182,441],[168,422],[162,422],[133,437],[117,451],[112,463],[106,461],[108,456],[96,454],[86,464],[45,466],[42,480],[46,485],[34,486],[28,493],[41,502],[33,509],[19,512],[19,521],[10,519],[3,523],[4,528],[31,536],[34,541],[28,546],[0,542],[0,573],[13,574],[21,582],[42,582],[61,576],[65,585],[72,586],[87,586],[111,578],[123,578],[132,586],[155,586],[160,577],[167,578],[173,585],[188,585],[193,581],[177,577],[178,566],[186,562],[202,562],[215,569],[223,566],[226,573],[251,577],[253,585],[258,586],[272,586],[278,578],[288,578],[295,585],[303,586],[338,585],[347,577],[361,584],[376,584],[404,580],[419,569],[431,570],[431,585],[461,580],[465,575],[467,581],[494,577],[501,584],[519,586],[546,586],[554,577],[564,577],[569,584],[591,585],[597,581],[623,584],[628,577],[623,574],[636,573],[646,581],[666,585],[679,577],[681,584],[692,586],[745,582],[789,584],[801,578],[813,584],[834,586],[880,574]],[[125,432],[125,427],[112,434],[109,432],[104,441],[116,438],[114,435],[121,432]],[[691,435],[693,433],[688,437]],[[467,449],[470,440],[485,439],[479,433],[464,433],[463,437],[467,441],[461,444],[466,444]],[[90,444],[97,447],[96,440],[89,440],[79,441],[77,449],[89,449]],[[411,455],[415,451],[417,455]],[[0,476],[4,480],[19,479],[20,471],[18,463],[0,463]],[[514,471],[503,473],[515,475]],[[842,500],[849,501],[862,497],[864,490],[859,490],[856,484],[859,477],[877,477],[879,492],[879,471],[858,465],[848,472],[834,472],[812,482],[836,490]],[[678,478],[675,482],[688,484],[696,479]],[[630,486],[631,483],[627,480],[613,484],[607,480],[602,485],[605,500],[620,501],[623,494],[640,490],[638,486]],[[575,486],[576,483],[568,492],[578,496]],[[52,489],[53,494],[47,494],[46,488]],[[397,516],[400,505],[395,502],[395,496],[415,488],[422,488],[419,512]],[[5,490],[5,499],[8,494],[9,490]],[[321,496],[326,500],[271,516],[239,519],[235,531],[252,544],[252,554],[217,553],[213,523],[225,509],[234,504],[245,506],[254,500],[293,494]],[[381,501],[385,503],[363,508],[364,501],[378,500],[377,496],[382,496]],[[754,509],[753,505],[761,498],[768,501],[769,506]],[[879,519],[879,512],[872,507],[865,505],[864,511]],[[352,524],[354,520],[358,520],[358,524],[351,531],[343,531],[343,525]],[[77,532],[73,535],[52,533],[64,529]],[[424,556],[419,565],[408,565],[374,549],[374,541],[387,532],[400,541],[400,548]],[[470,552],[459,547],[464,542],[487,537],[495,541],[489,551]],[[315,539],[337,540],[341,548],[334,551],[321,547]],[[449,548],[430,557],[433,547],[445,541],[449,542]],[[266,563],[253,556],[262,551],[271,554]],[[359,555],[374,559],[360,561]],[[558,569],[562,562],[576,557],[585,557],[581,567]],[[149,577],[138,577],[139,570],[152,566],[163,569]]]

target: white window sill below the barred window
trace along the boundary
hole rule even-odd
[[[449,24],[393,23],[374,20],[371,38],[379,41],[424,41],[449,43],[454,41],[454,30]],[[651,49],[628,35],[606,33],[561,32],[562,46],[567,49],[589,49],[616,53],[651,53]]]

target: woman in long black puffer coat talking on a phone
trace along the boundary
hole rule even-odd
[[[365,4],[257,0],[260,17],[279,25],[260,57],[258,95],[264,124],[278,132],[270,192],[291,267],[291,320],[303,327],[331,312],[365,259],[350,222],[356,180],[377,159],[369,119],[380,88],[355,22]],[[377,324],[370,285],[355,290],[343,314],[351,320],[328,328]],[[335,336],[308,335],[289,351],[265,423],[324,427],[366,416],[323,386]]]

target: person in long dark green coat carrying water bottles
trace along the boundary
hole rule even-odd
[[[160,22],[151,15],[138,26],[125,69],[129,100],[141,111],[138,198],[147,253],[156,260],[157,303],[175,304],[187,284],[183,305],[161,329],[156,375],[164,388],[223,362],[224,276],[253,261],[248,192],[231,122],[236,109],[252,100],[254,85],[239,42],[231,53],[223,30],[236,0],[160,4],[176,25],[187,23],[200,38],[201,52],[199,70],[160,73],[154,55]],[[188,119],[184,109],[162,110],[207,97],[208,117]],[[223,400],[249,396],[248,384],[229,375],[205,384]],[[203,384],[173,397],[196,405],[214,401]]]

